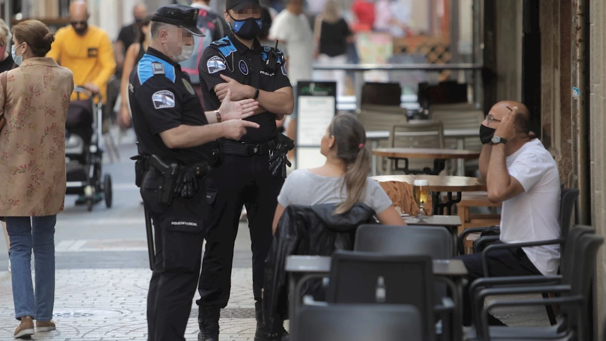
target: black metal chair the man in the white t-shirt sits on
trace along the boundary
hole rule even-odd
[[[568,230],[570,229],[572,215],[573,215],[574,207],[575,207],[575,202],[578,197],[579,197],[579,190],[576,188],[565,188],[565,189],[562,189],[562,191],[561,191],[560,216],[559,216],[559,224],[560,224],[560,238],[559,239],[538,241],[536,243],[531,243],[531,245],[528,243],[507,243],[507,244],[494,245],[494,244],[490,244],[490,243],[494,243],[495,241],[498,241],[499,240],[498,235],[478,238],[478,240],[476,240],[473,244],[473,249],[474,249],[474,252],[479,252],[480,249],[482,249],[482,252],[484,252],[484,276],[488,277],[488,263],[486,262],[486,259],[488,257],[488,252],[490,252],[491,250],[521,248],[521,247],[525,247],[525,246],[544,246],[544,245],[563,244],[565,241],[565,238],[568,235]],[[490,229],[490,231],[493,231],[495,233],[500,232],[499,228],[496,226],[491,226],[489,228],[471,228],[471,229],[466,229],[465,231],[463,231],[461,233],[461,235],[459,235],[459,252],[461,254],[464,254],[462,245],[464,243],[465,237],[468,234],[473,233],[473,232],[487,231],[488,229]],[[488,245],[488,244],[490,244],[490,245]],[[565,248],[562,248],[561,252],[560,252],[562,257],[564,255],[564,252],[565,252]],[[548,297],[547,293],[544,293],[543,297],[547,298]],[[556,314],[553,311],[553,307],[550,305],[547,305],[547,306],[545,306],[545,311],[547,311],[547,317],[548,317],[551,325],[552,326],[556,325],[558,323],[558,320],[556,319]]]

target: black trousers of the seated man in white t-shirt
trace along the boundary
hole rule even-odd
[[[474,280],[484,277],[482,253],[461,255],[454,258],[462,260],[469,272],[467,275],[468,285],[463,289],[463,325],[470,326],[472,317],[469,286]],[[521,248],[490,251],[487,259],[490,277],[541,275],[541,272],[530,262]],[[488,316],[488,323],[490,325],[504,325],[491,315]]]

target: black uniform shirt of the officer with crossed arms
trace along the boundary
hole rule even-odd
[[[221,106],[219,98],[213,88],[219,83],[225,83],[220,75],[235,79],[240,84],[256,87],[260,90],[274,92],[283,87],[290,87],[286,75],[284,56],[278,50],[279,58],[275,70],[265,66],[270,47],[261,46],[255,39],[253,49],[248,49],[233,33],[208,46],[198,66],[204,96],[204,106],[209,110]],[[264,112],[247,118],[248,121],[258,123],[258,129],[247,129],[242,141],[258,143],[269,141],[278,135],[275,113]]]

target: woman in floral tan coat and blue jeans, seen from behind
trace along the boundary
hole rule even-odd
[[[65,116],[73,75],[44,56],[54,41],[42,22],[13,27],[13,59],[0,91],[0,217],[10,236],[15,337],[55,329],[55,223],[65,199]],[[0,87],[2,85],[0,84]],[[4,96],[6,93],[6,96]],[[36,255],[36,295],[32,285]]]

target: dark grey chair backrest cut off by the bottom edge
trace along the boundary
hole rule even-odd
[[[422,341],[419,309],[411,305],[304,306],[297,317],[298,341]]]

